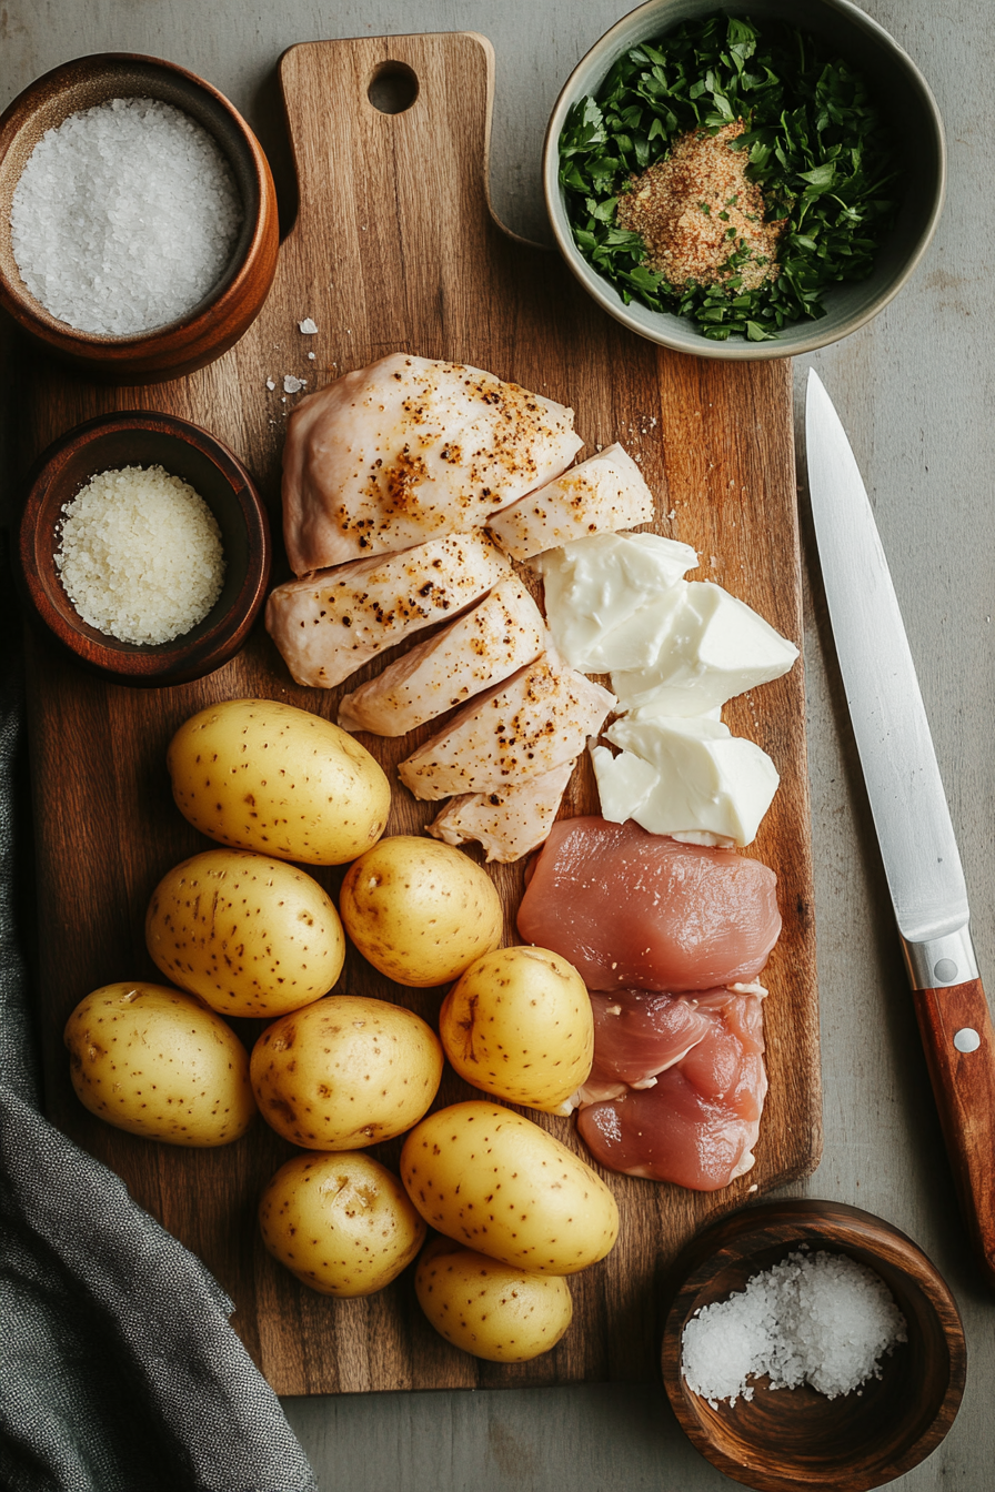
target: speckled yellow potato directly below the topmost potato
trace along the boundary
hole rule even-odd
[[[280,1016],[328,994],[346,940],[331,897],[303,870],[209,849],[152,892],[145,941],[161,971],[225,1016]]]

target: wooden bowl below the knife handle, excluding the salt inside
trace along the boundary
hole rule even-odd
[[[846,1253],[876,1270],[908,1328],[859,1394],[826,1398],[809,1385],[755,1385],[752,1401],[712,1408],[680,1371],[691,1316],[743,1291],[801,1244]],[[935,1267],[891,1223],[828,1201],[764,1203],[731,1213],[688,1244],[671,1274],[662,1347],[664,1383],[682,1428],[715,1467],[756,1492],[864,1492],[903,1476],[935,1450],[964,1394],[961,1316]]]

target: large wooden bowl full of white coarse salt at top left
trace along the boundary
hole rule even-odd
[[[173,63],[81,57],[0,116],[0,304],[90,377],[212,363],[263,309],[277,254],[255,134]]]

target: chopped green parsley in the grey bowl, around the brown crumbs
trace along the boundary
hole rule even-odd
[[[731,148],[749,151],[767,218],[788,219],[780,273],[741,292],[732,252],[725,283],[671,285],[643,263],[640,234],[618,225],[619,194],[677,136],[715,134],[735,119],[746,128]],[[559,181],[577,248],[624,303],[689,316],[713,340],[768,342],[788,322],[823,316],[825,286],[870,275],[897,207],[888,131],[864,78],[792,27],[724,13],[615,63],[597,97],[567,115]]]

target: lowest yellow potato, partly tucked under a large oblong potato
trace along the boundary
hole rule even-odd
[[[446,1341],[491,1362],[528,1362],[573,1319],[559,1274],[528,1274],[452,1238],[433,1238],[415,1271],[418,1304]]]

